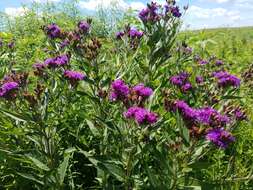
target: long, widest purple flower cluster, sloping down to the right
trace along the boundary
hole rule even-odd
[[[223,126],[229,122],[229,118],[227,116],[221,115],[213,108],[205,107],[194,109],[181,100],[175,102],[173,110],[178,110],[184,120],[191,124],[201,124],[214,127]]]

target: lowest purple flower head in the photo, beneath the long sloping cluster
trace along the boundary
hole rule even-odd
[[[206,139],[223,149],[227,148],[230,143],[235,141],[232,134],[223,128],[209,130],[206,134]]]

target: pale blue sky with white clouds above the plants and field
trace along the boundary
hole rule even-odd
[[[24,12],[22,4],[32,1],[60,2],[64,0],[0,0],[0,11],[9,15],[19,15]],[[154,0],[155,1],[155,0]],[[164,3],[165,0],[156,0]],[[98,5],[109,6],[117,2],[123,8],[142,9],[147,0],[80,0],[83,11],[94,11]],[[223,26],[253,26],[253,0],[178,0],[183,7],[189,3],[189,9],[184,17],[184,25],[189,28],[213,28]]]

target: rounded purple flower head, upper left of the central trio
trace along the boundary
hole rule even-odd
[[[112,101],[125,100],[130,93],[129,87],[120,79],[113,81],[111,89],[110,99]]]

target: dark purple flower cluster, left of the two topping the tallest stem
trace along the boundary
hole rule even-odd
[[[139,18],[144,22],[156,22],[160,19],[158,13],[157,13],[158,5],[154,2],[151,2],[151,4],[148,4],[148,7],[145,9],[142,9],[139,12]]]

